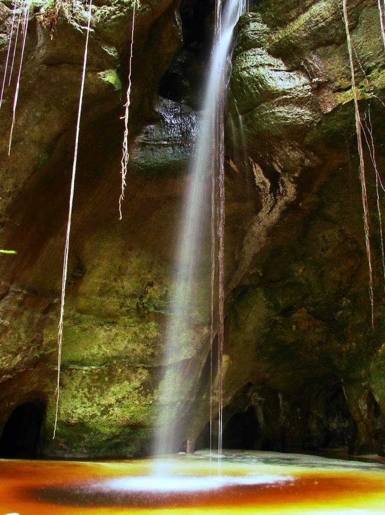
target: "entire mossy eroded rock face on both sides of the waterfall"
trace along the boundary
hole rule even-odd
[[[369,146],[372,124],[382,177],[385,58],[377,2],[348,0],[347,6],[359,107]],[[4,63],[12,5],[0,7]],[[8,434],[7,420],[24,406],[13,420],[32,412],[33,420],[43,418],[45,455],[146,453],[155,426],[172,317],[174,247],[199,127],[212,5],[139,3],[131,160],[119,221],[120,117],[132,7],[117,0],[96,2],[93,10],[53,441],[85,5],[63,4],[53,32],[52,6],[31,12],[10,156],[14,78],[0,111],[0,248],[18,252],[0,254],[0,430]],[[334,0],[259,0],[238,23],[226,107],[228,447],[346,447],[352,454],[385,454],[376,177],[366,148],[373,330],[341,9]],[[186,381],[174,399],[181,435],[176,450],[184,441],[188,450],[208,444],[207,281],[209,274],[197,283],[202,299],[188,324],[191,345],[179,356]],[[216,388],[213,398],[215,410]]]

